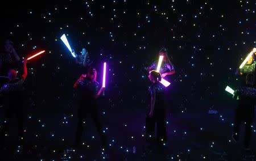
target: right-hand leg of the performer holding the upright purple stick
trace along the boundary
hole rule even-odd
[[[102,146],[105,147],[106,146],[106,136],[103,133],[103,128],[102,128],[102,124],[100,122],[100,118],[99,118],[99,115],[98,115],[97,107],[94,107],[92,109],[91,115],[92,115],[93,122],[96,125],[96,128],[98,130],[98,134],[101,137]]]

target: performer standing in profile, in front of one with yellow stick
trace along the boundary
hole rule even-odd
[[[146,141],[148,142],[148,148],[151,149],[155,140],[155,123],[158,145],[162,147],[166,141],[166,109],[164,108],[164,86],[159,82],[161,79],[160,73],[152,70],[148,78],[152,85],[149,87],[151,102],[146,117]]]

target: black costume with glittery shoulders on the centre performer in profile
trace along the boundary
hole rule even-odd
[[[146,117],[146,139],[149,142],[155,140],[156,123],[156,140],[160,145],[166,141],[166,109],[164,108],[164,86],[160,82],[156,82],[149,87],[149,92],[151,96],[155,96],[155,106],[153,116],[150,117],[147,114]]]

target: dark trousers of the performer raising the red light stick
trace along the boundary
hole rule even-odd
[[[6,122],[3,123],[3,128],[0,134],[1,143],[3,143],[5,140],[5,134],[10,126],[11,118],[13,118],[13,116],[15,116],[18,123],[18,139],[23,137],[23,108],[20,105],[16,105],[15,107],[11,105],[7,109],[5,119]]]

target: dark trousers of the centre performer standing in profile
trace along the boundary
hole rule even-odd
[[[155,141],[155,124],[156,124],[156,141],[162,145],[166,141],[166,110],[154,109],[153,116],[146,116],[146,141],[152,143]]]

